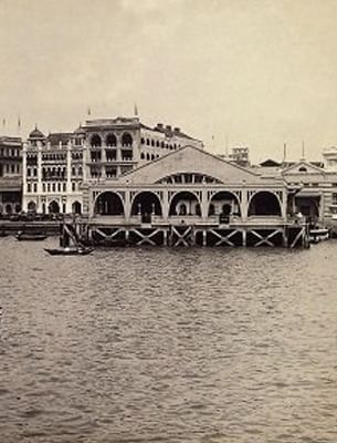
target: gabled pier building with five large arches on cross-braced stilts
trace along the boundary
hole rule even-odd
[[[299,186],[185,146],[116,181],[88,183],[84,217],[94,241],[288,245]],[[302,237],[301,237],[302,238]]]

